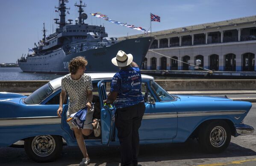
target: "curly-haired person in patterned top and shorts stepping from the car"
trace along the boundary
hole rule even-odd
[[[92,120],[93,113],[92,111],[89,111],[92,107],[91,102],[93,98],[93,87],[91,82],[91,76],[84,73],[86,69],[85,66],[87,64],[88,61],[81,56],[72,59],[68,64],[69,74],[62,77],[62,91],[59,97],[59,109],[57,111],[58,116],[61,117],[62,105],[65,100],[66,93],[68,93],[69,96],[67,119],[70,117],[71,114],[76,113],[85,106],[87,106],[88,108],[83,129],[77,128],[77,126],[73,125],[71,121],[68,122],[68,125],[74,131],[78,146],[82,151],[84,157],[79,163],[80,166],[86,166],[90,163],[90,158],[85,147],[83,135],[90,135],[94,129],[95,137],[100,136],[99,122],[97,119]],[[93,123],[88,124],[92,121]]]

